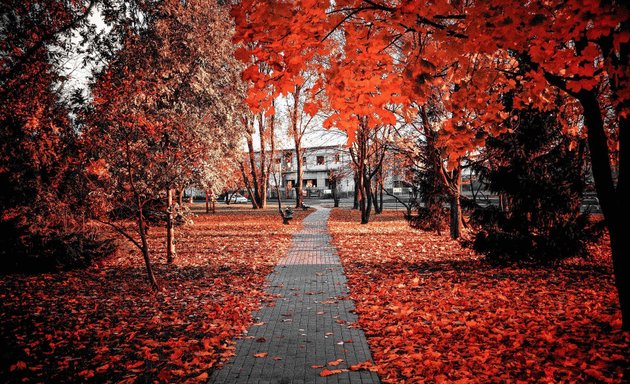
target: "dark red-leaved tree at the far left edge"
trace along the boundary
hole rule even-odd
[[[0,252],[10,268],[85,265],[112,250],[101,249],[102,235],[86,225],[82,200],[89,190],[79,176],[85,164],[63,76],[77,45],[101,47],[89,36],[72,39],[91,30],[97,3],[0,5]],[[105,8],[118,25],[117,9]]]

